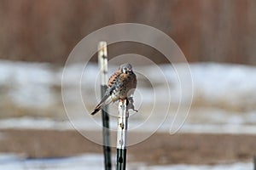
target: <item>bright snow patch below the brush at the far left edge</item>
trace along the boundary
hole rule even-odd
[[[44,107],[52,102],[49,84],[55,83],[55,75],[49,64],[2,60],[0,72],[0,86],[9,88],[9,96],[16,105]]]

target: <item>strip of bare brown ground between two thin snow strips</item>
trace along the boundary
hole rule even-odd
[[[102,153],[102,145],[85,139],[73,130],[4,129],[0,133],[0,152],[23,153],[29,158]],[[140,133],[129,135],[136,138]],[[115,154],[115,148],[112,150]],[[251,161],[255,154],[256,135],[154,133],[144,142],[128,147],[127,161],[215,164]]]

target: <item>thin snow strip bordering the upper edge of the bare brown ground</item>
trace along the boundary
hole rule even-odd
[[[102,122],[97,120],[96,122],[100,125]],[[75,122],[80,130],[102,130],[102,127],[96,127],[95,122],[86,122],[77,120]],[[115,128],[116,122],[112,121],[110,127]],[[136,127],[137,122],[130,122],[129,126]],[[49,118],[33,118],[33,117],[21,117],[21,118],[10,118],[0,120],[1,129],[19,128],[19,129],[55,129],[55,130],[73,130],[74,127],[69,121],[55,121]],[[143,132],[153,132],[154,126],[147,124],[143,127]],[[169,132],[170,124],[163,123],[158,132]],[[138,130],[137,130],[138,132]],[[242,133],[242,134],[255,134],[256,126],[243,125],[243,124],[195,124],[185,123],[179,130],[179,133]],[[1,139],[1,135],[0,135]]]

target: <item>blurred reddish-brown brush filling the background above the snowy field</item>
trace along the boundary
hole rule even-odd
[[[256,64],[255,0],[0,0],[0,58],[63,64],[90,32],[122,22],[164,31],[190,62]],[[110,55],[120,51],[165,62],[137,43]]]

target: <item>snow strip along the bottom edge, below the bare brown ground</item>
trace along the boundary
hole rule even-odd
[[[99,154],[87,154],[66,158],[51,159],[25,159],[22,156],[4,154],[0,155],[0,168],[5,170],[90,170],[103,169],[103,156]],[[114,166],[114,162],[113,162]],[[248,170],[253,169],[253,163],[238,162],[221,165],[168,165],[148,166],[143,162],[131,162],[127,164],[129,170]]]

